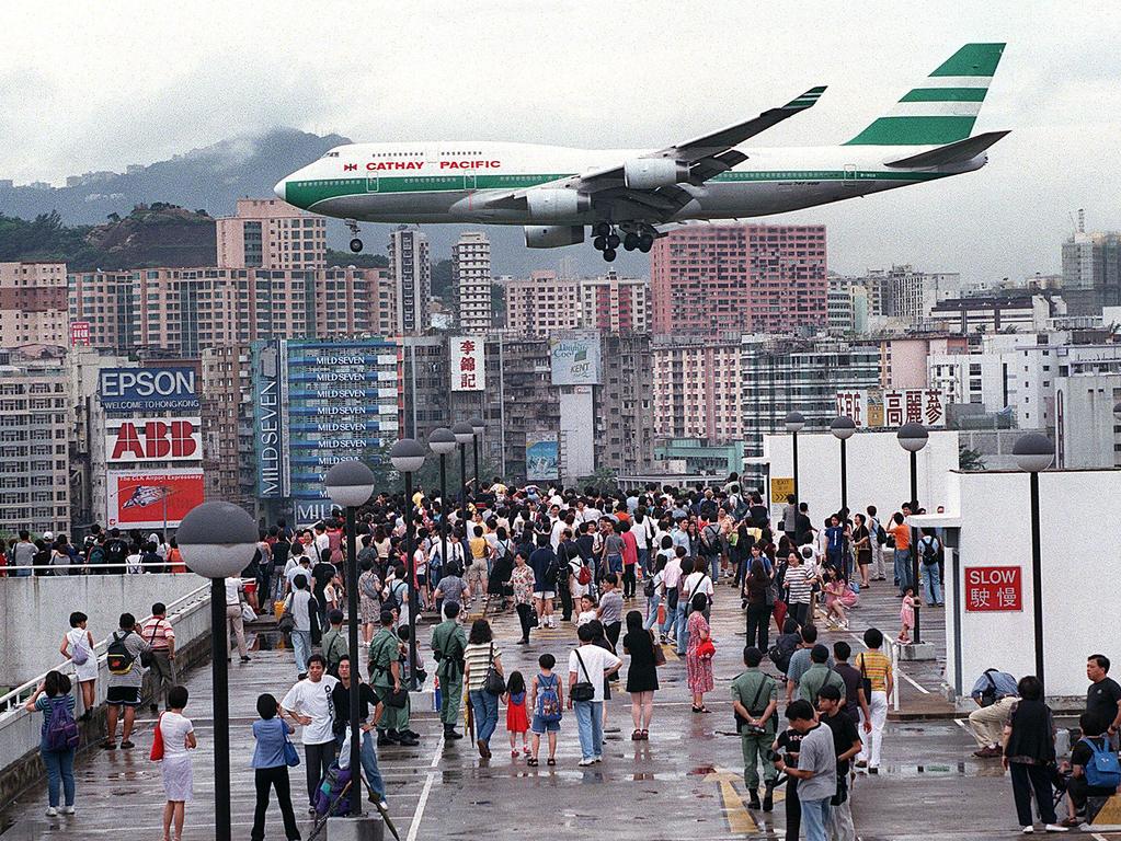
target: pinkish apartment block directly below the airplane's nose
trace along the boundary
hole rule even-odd
[[[279,198],[239,198],[233,216],[216,219],[223,269],[323,269],[327,222]]]

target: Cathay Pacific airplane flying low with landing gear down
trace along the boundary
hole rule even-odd
[[[359,222],[524,225],[528,247],[584,242],[612,261],[622,245],[696,221],[763,216],[972,172],[1007,131],[971,137],[1003,44],[966,44],[883,116],[841,146],[745,146],[815,105],[812,87],[753,120],[654,151],[531,143],[349,143],[282,178],[277,196]]]

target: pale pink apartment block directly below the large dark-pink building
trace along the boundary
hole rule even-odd
[[[703,438],[729,443],[743,438],[738,336],[656,337],[652,355],[659,441]]]

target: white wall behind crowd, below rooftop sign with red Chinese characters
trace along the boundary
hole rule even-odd
[[[771,477],[794,476],[791,436],[765,434],[763,456]],[[957,432],[932,431],[918,454],[918,498],[927,511],[948,505],[946,474],[957,469]],[[890,516],[910,498],[910,454],[899,446],[895,430],[859,431],[847,442],[849,507],[863,512],[874,505]],[[798,434],[798,498],[809,505],[814,527],[841,507],[841,442],[830,432]],[[772,499],[781,512],[786,499]]]

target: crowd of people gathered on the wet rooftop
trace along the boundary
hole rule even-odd
[[[908,522],[912,510],[920,511],[916,505],[900,506],[883,523],[874,506],[855,514],[842,510],[815,529],[806,504],[793,497],[772,520],[758,493],[741,492],[735,475],[722,486],[649,486],[630,494],[604,494],[595,488],[512,489],[495,478],[469,499],[444,501],[417,489],[411,505],[405,502],[383,494],[360,511],[356,581],[349,581],[344,572],[348,545],[342,522],[331,518],[309,529],[293,530],[280,521],[263,530],[251,563],[226,582],[231,657],[237,647],[241,660],[250,661],[244,622],[276,610],[278,627],[290,639],[296,675],[279,700],[267,693],[258,699],[254,839],[263,834],[270,791],[279,802],[287,837],[299,837],[287,776],[294,750],[289,737],[297,727],[309,813],[319,807],[323,781],[348,765],[353,682],[361,697],[359,776],[368,797],[381,807],[391,793],[378,768],[378,750],[419,742],[420,735],[410,727],[409,690],[425,682],[429,667],[435,673],[445,745],[464,737],[465,718],[483,760],[493,756],[492,740],[504,707],[511,759],[529,767],[541,761],[555,765],[562,722],[571,712],[580,744],[578,765],[603,761],[603,733],[609,727],[605,701],[620,691],[631,701],[630,738],[649,739],[659,667],[666,663],[667,650],[684,660],[692,712],[708,713],[706,695],[715,689],[717,642],[710,620],[717,598],[738,601],[744,613],[744,671],[730,691],[749,807],[771,811],[775,788],[785,781],[787,839],[796,839],[799,828],[810,841],[855,838],[852,783],[856,774],[880,772],[895,675],[880,629],[870,627],[863,633],[864,650],[855,655],[843,639],[827,647],[819,634],[847,630],[851,613],[860,609],[861,594],[868,588],[892,588],[900,606],[896,638],[901,643],[909,641],[916,602],[942,606],[942,544],[936,534]],[[112,532],[99,533],[93,546],[115,540],[124,542]],[[174,541],[164,555],[156,540],[147,545],[172,570],[182,562],[169,554]],[[892,551],[890,564],[886,549]],[[87,557],[86,570],[96,571],[96,566]],[[349,588],[359,597],[362,662],[358,664],[350,662],[344,629],[342,608]],[[179,756],[180,746],[184,751],[194,746],[194,736],[189,721],[182,718],[186,691],[176,685],[174,630],[169,624],[159,624],[161,613],[156,608],[163,606],[154,607],[154,619],[139,633],[133,632],[133,617],[121,617],[118,634],[122,638],[114,635],[110,655],[114,646],[127,652],[140,666],[137,675],[143,669],[154,670],[166,704],[175,713],[165,712],[159,729],[175,741]],[[571,627],[567,667],[560,665],[560,652],[546,652],[531,672],[509,669],[491,619],[510,610],[518,618],[518,645],[529,644],[543,629]],[[434,617],[430,638],[416,641],[415,657],[409,645],[414,614]],[[75,662],[85,716],[96,670],[92,678],[87,672],[83,678],[74,655],[92,651],[93,636],[83,615],[75,614],[71,625],[62,652]],[[626,679],[620,676],[623,671]],[[110,674],[105,747],[115,749],[117,710],[122,720],[120,747],[127,749],[132,747],[140,682],[128,674],[114,679],[112,667]],[[1030,681],[1025,685],[1028,680],[1017,684],[992,676],[990,682],[998,686],[995,709],[1008,713],[1009,730],[994,738],[997,726],[990,713],[983,730],[985,744],[979,747],[979,756],[997,751],[1011,763],[1018,807],[1025,786],[1037,784],[1030,768],[1017,769],[1018,764],[1031,765],[1021,761],[1030,751],[1009,754],[1027,750],[1017,747],[1022,744],[1017,733],[1027,725],[1018,727],[1016,721],[1026,720],[1032,709],[1028,702],[1039,700],[1031,695]],[[45,686],[44,695],[55,698],[58,689],[57,682]],[[158,702],[152,700],[152,709]],[[35,703],[49,718],[52,710],[41,698]],[[1118,723],[1114,720],[1099,730],[1113,737]],[[44,727],[46,733],[46,721]],[[1093,736],[1095,726],[1087,722],[1083,729]],[[182,767],[173,774],[167,767],[170,805],[165,824],[170,833],[182,826],[189,774]],[[66,787],[65,763],[59,763],[50,777],[52,809],[58,806],[56,777],[65,789],[63,807],[73,807],[73,776]],[[180,796],[185,793],[186,797]],[[1047,820],[1054,815],[1041,802],[1039,809],[1048,829],[1065,829]],[[1074,819],[1072,813],[1069,820]]]

